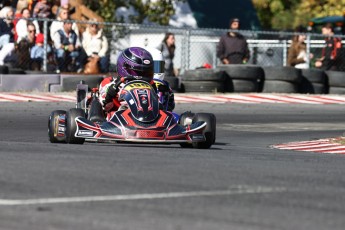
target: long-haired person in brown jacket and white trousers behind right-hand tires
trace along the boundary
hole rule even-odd
[[[288,53],[288,66],[294,66],[298,69],[308,69],[309,65],[307,61],[311,60],[314,55],[309,54],[309,57],[307,55],[305,44],[306,35],[302,34],[306,33],[307,30],[300,26],[296,28],[295,32],[300,34],[297,34],[292,38],[292,43]]]

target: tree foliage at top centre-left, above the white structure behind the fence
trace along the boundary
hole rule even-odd
[[[148,19],[159,25],[168,25],[170,17],[175,14],[173,0],[85,0],[85,5],[103,17],[106,22],[123,22],[123,19],[116,19],[115,11],[119,7],[133,7],[136,14],[130,16],[131,23],[140,24]]]

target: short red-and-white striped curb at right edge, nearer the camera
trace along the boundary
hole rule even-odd
[[[271,145],[270,148],[315,153],[345,154],[345,145],[336,142],[337,140],[343,140],[343,138],[338,137],[312,141],[289,142],[285,144]]]

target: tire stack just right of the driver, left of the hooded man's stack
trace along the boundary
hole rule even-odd
[[[228,75],[218,69],[196,69],[185,71],[180,78],[182,92],[224,93]]]

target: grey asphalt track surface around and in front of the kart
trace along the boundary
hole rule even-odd
[[[73,106],[0,103],[0,229],[345,228],[345,155],[269,148],[341,136],[344,105],[178,104],[216,114],[209,150],[49,143]]]

